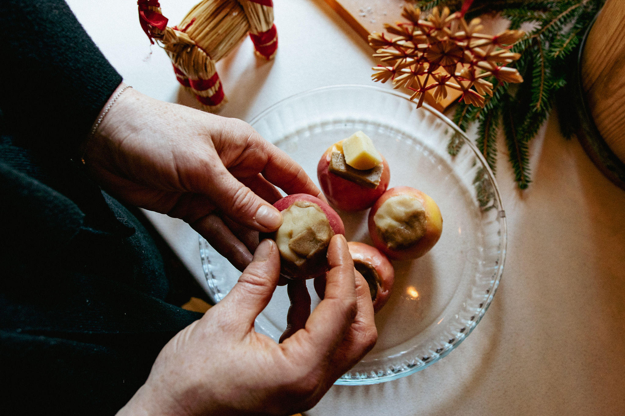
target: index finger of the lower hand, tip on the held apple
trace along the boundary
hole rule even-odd
[[[324,299],[308,318],[306,331],[296,332],[282,344],[286,347],[306,344],[309,353],[315,354],[317,359],[327,357],[336,349],[356,317],[354,262],[344,236],[332,237],[327,261],[331,269],[326,273]]]

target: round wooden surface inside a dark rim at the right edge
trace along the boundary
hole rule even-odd
[[[582,84],[597,129],[625,162],[625,1],[607,0],[582,55]]]

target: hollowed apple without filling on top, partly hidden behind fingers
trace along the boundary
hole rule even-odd
[[[354,267],[369,284],[373,311],[377,313],[391,296],[395,270],[386,256],[368,244],[350,241],[347,243]]]

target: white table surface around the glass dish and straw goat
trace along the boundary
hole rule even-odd
[[[124,80],[151,97],[192,104],[169,59],[150,48],[136,2],[70,0]],[[178,23],[196,0],[163,0]],[[217,65],[221,115],[251,120],[314,87],[371,84],[371,50],[322,0],[274,0],[279,48],[257,60],[246,39]],[[152,54],[150,54],[152,51]],[[501,143],[501,141],[500,141]],[[471,336],[440,362],[384,384],[334,386],[308,415],[624,415],[625,192],[592,165],[554,112],[531,142],[532,184],[519,191],[505,147],[497,181],[508,225],[501,285]],[[197,235],[149,213],[203,284]]]

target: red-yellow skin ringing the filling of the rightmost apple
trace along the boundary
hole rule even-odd
[[[382,206],[386,200],[391,198],[391,196],[397,195],[411,195],[415,196],[426,210],[426,233],[422,236],[416,243],[406,249],[391,249],[386,246],[386,243],[382,240],[381,236],[377,233],[376,223],[373,220],[374,215],[376,215],[377,210]],[[442,233],[442,216],[441,210],[439,210],[436,202],[432,200],[425,193],[411,188],[409,186],[395,186],[384,192],[382,196],[374,203],[371,207],[371,211],[369,211],[369,235],[371,235],[371,239],[373,244],[377,249],[382,251],[382,253],[386,254],[391,259],[396,260],[404,260],[404,259],[416,259],[421,257],[423,254],[426,254],[434,244],[441,238]]]

